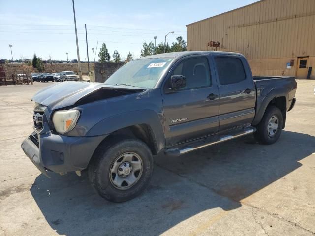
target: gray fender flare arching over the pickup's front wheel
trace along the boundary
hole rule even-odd
[[[152,131],[153,139],[159,151],[165,146],[163,122],[162,114],[152,110],[131,111],[101,120],[87,132],[86,136],[110,134],[132,125],[146,124]]]

